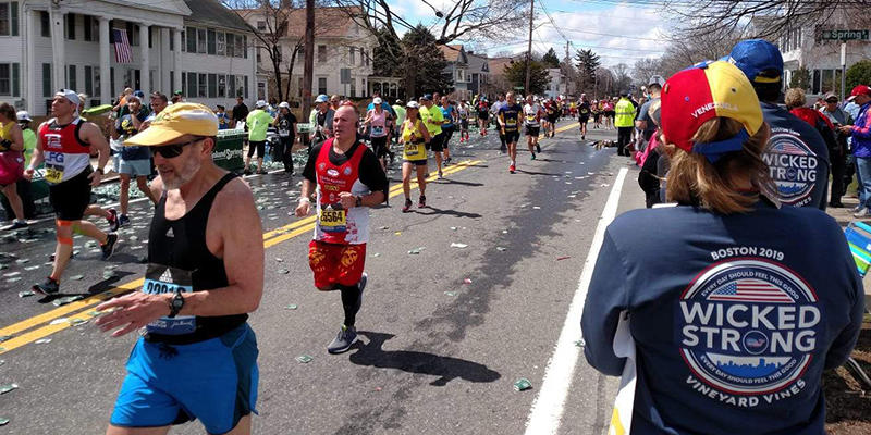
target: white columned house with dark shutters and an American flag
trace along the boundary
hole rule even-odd
[[[130,62],[119,62],[112,44],[121,34]],[[212,107],[235,95],[250,101],[250,41],[245,23],[219,0],[0,1],[0,101],[44,115],[58,89],[87,94],[97,105],[125,86],[181,89]]]

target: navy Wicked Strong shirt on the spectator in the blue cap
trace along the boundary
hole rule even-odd
[[[777,184],[781,202],[825,210],[829,194],[829,149],[820,133],[776,104],[762,103],[771,127],[762,159]]]

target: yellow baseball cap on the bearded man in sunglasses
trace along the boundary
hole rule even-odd
[[[212,137],[217,134],[218,116],[211,109],[193,102],[176,102],[155,116],[147,129],[124,140],[124,146],[154,147],[184,135]]]

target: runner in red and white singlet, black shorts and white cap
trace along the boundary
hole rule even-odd
[[[112,257],[116,234],[106,234],[85,221],[90,202],[90,188],[100,184],[103,167],[109,161],[109,144],[95,124],[78,117],[81,101],[75,91],[62,89],[54,95],[51,112],[54,117],[37,129],[36,150],[24,176],[33,179],[34,167],[45,162],[48,198],[54,209],[58,244],[54,248],[51,275],[33,286],[46,295],[60,291],[60,281],[73,253],[73,233],[84,234],[100,243],[102,259]],[[90,151],[96,150],[97,170],[90,167]],[[94,207],[94,211],[97,211]],[[118,222],[118,219],[114,220]]]

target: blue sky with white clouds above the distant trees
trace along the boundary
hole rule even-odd
[[[391,0],[390,3],[397,14],[412,24],[421,22],[433,27],[440,24],[432,10],[420,0]],[[446,11],[454,1],[433,0],[430,4]],[[592,49],[600,55],[603,65],[626,63],[631,67],[639,59],[658,58],[665,47],[662,37],[670,35],[671,28],[668,23],[661,20],[661,7],[650,3],[543,0],[536,1],[536,11],[533,51],[544,52],[553,47],[562,59],[565,55],[566,40],[569,40],[572,55],[576,49]],[[480,41],[477,47],[470,47],[477,51],[487,51],[490,55],[502,51],[525,52],[528,32],[528,27],[517,28],[514,36]]]

